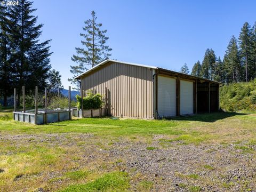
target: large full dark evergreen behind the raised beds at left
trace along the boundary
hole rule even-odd
[[[46,86],[49,75],[50,46],[51,40],[39,42],[43,24],[37,25],[37,17],[32,15],[36,9],[32,9],[32,2],[20,0],[19,5],[11,6],[9,39],[13,75],[15,75],[14,86],[17,87],[18,105],[20,103],[22,85],[27,89],[34,90],[35,85],[42,90]]]

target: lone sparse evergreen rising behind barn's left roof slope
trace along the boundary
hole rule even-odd
[[[82,45],[85,45],[84,48],[76,47],[77,55],[73,55],[71,60],[78,63],[77,66],[70,66],[70,72],[74,74],[73,78],[69,78],[68,81],[71,84],[76,85],[73,89],[79,90],[79,83],[74,77],[81,74],[82,71],[90,69],[98,65],[101,61],[108,59],[112,50],[109,46],[106,45],[108,37],[105,35],[107,30],[101,30],[102,24],[97,23],[97,17],[95,12],[91,12],[92,18],[86,20],[85,27],[83,30],[85,34],[80,34],[81,37],[85,38],[82,42]]]

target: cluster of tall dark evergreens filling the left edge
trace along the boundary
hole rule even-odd
[[[5,0],[4,0],[5,1]],[[7,2],[7,1],[5,1]],[[59,71],[51,70],[50,41],[39,41],[43,24],[37,25],[32,2],[20,0],[18,5],[0,5],[0,99],[7,98],[17,88],[18,105],[22,85],[33,95],[35,86],[43,92],[61,86]]]

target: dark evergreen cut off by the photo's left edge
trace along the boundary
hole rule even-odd
[[[11,73],[10,73],[10,43],[7,34],[9,25],[6,4],[0,5],[0,98],[3,95],[4,106],[7,106],[7,97],[12,94]]]

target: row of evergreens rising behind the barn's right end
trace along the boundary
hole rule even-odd
[[[189,73],[187,64],[181,73]],[[233,35],[228,43],[223,60],[207,49],[202,61],[197,61],[191,75],[222,83],[247,82],[256,77],[256,22],[251,27],[245,22],[238,40]]]

